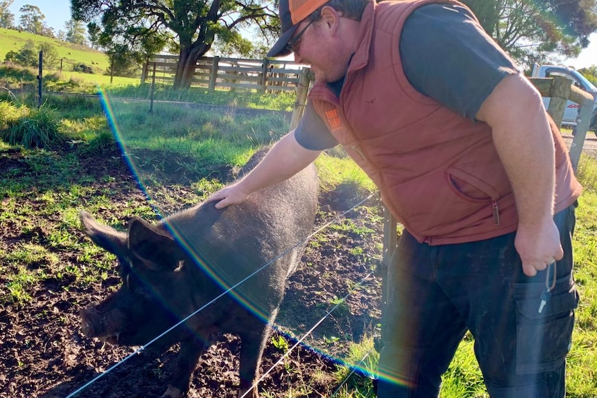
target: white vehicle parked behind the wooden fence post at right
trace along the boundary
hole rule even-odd
[[[567,66],[535,64],[533,67],[533,75],[531,77],[550,78],[553,76],[560,76],[562,78],[572,80],[572,84],[583,91],[587,91],[587,93],[590,93],[593,98],[595,98],[596,102],[593,107],[589,131],[595,132],[597,134],[597,87],[589,82],[585,76],[578,73],[578,71],[575,71]],[[546,108],[549,107],[549,98],[543,98],[543,103]],[[564,119],[562,120],[562,125],[576,126],[576,118],[578,117],[579,109],[580,105],[578,105],[576,102],[568,101],[566,109],[564,110]]]

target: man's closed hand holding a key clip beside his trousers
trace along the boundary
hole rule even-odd
[[[514,245],[522,260],[522,271],[528,276],[537,275],[537,271],[564,257],[560,233],[551,218],[532,226],[519,223]]]

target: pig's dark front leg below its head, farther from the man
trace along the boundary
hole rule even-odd
[[[161,398],[181,398],[188,390],[190,375],[197,366],[199,356],[208,345],[203,338],[190,338],[181,341],[180,351],[177,358],[174,377],[168,386],[168,390],[163,393]]]

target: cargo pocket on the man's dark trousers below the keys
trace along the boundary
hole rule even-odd
[[[556,281],[551,299],[539,313],[544,283],[516,283],[516,373],[560,368],[570,350],[578,292],[571,276]]]

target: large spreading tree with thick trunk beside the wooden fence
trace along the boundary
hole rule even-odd
[[[71,6],[75,19],[100,22],[103,44],[112,41],[145,54],[152,54],[147,45],[157,53],[168,44],[177,51],[175,88],[190,86],[197,59],[217,40],[238,45],[242,53],[247,41],[241,28],[256,24],[269,38],[279,31],[274,0],[71,0]]]

